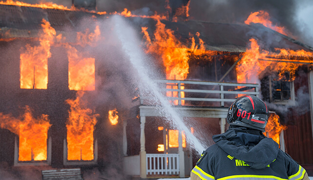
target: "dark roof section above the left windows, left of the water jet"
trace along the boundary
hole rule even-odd
[[[0,4],[0,38],[36,37],[42,20],[47,20],[59,32],[76,29],[83,18],[99,18],[96,13],[43,9]]]

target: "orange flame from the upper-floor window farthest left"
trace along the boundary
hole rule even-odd
[[[47,89],[48,58],[51,57],[50,46],[56,35],[50,23],[43,19],[43,31],[39,33],[39,46],[26,45],[20,58],[21,88]]]

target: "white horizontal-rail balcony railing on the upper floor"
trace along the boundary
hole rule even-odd
[[[180,80],[156,80],[155,82],[159,89],[167,94],[169,100],[177,102],[176,105],[182,105],[184,101],[198,101],[218,102],[219,106],[224,107],[225,102],[234,102],[240,94],[259,95],[258,84]],[[168,95],[168,93],[171,94]],[[147,104],[144,100],[149,100],[150,95],[149,93],[140,94],[140,103]]]

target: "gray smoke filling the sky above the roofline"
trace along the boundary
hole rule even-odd
[[[40,3],[41,0],[22,0]],[[71,7],[71,0],[46,0]],[[179,6],[181,0],[169,1]],[[175,4],[176,2],[177,4]],[[173,4],[174,3],[174,4]],[[136,15],[165,14],[165,0],[96,0],[99,12],[122,12],[124,8]],[[273,24],[284,26],[293,37],[313,46],[313,1],[312,0],[191,0],[190,19],[222,23],[244,23],[251,12],[267,11]]]

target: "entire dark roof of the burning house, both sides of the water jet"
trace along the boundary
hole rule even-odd
[[[70,34],[69,30],[82,31],[78,29],[82,19],[105,16],[110,15],[0,4],[0,38],[36,37],[41,29],[43,18],[49,21],[57,32]],[[150,32],[155,29],[154,19],[138,17],[128,19],[137,27],[138,32],[141,32],[142,26],[148,26]],[[257,38],[258,42],[262,43],[261,47],[268,51],[274,52],[275,48],[285,48],[313,52],[312,47],[260,24],[229,24],[197,20],[179,22],[162,20],[162,23],[166,25],[166,28],[175,30],[175,35],[186,41],[189,39],[189,33],[195,35],[199,32],[206,49],[212,51],[242,53],[246,51],[249,39]]]

